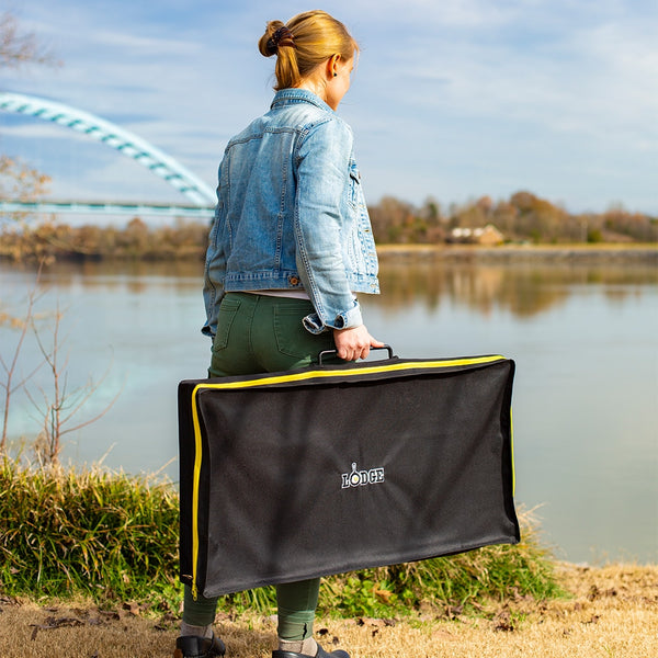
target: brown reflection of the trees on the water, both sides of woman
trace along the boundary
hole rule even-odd
[[[24,269],[29,275],[32,270]],[[0,264],[5,276],[9,265]],[[93,262],[55,263],[44,270],[42,283],[58,290],[125,290],[141,293],[151,286],[171,290],[198,288],[203,263]],[[650,264],[548,264],[520,262],[487,264],[476,261],[445,262],[438,259],[405,257],[382,259],[382,294],[368,297],[370,304],[401,311],[421,304],[428,310],[442,303],[464,305],[490,315],[508,310],[517,317],[540,315],[564,304],[581,286],[599,286],[612,302],[643,294],[658,283],[658,269]]]

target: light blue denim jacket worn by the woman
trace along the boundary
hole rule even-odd
[[[378,293],[377,254],[352,131],[322,100],[283,89],[227,145],[206,253],[203,332],[225,292],[304,288],[311,333],[362,324],[353,293]]]

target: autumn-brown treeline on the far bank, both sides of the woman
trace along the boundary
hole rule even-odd
[[[602,214],[574,215],[530,192],[509,201],[483,196],[443,208],[428,200],[420,207],[393,196],[368,207],[375,240],[385,243],[443,245],[477,241],[477,234],[455,229],[496,227],[500,242],[578,243],[655,242],[658,218],[613,207]],[[50,220],[42,224],[5,222],[0,231],[0,256],[15,261],[34,259],[202,259],[208,224],[178,219],[171,226],[148,226],[134,218],[124,228],[86,225],[72,227]],[[458,237],[455,237],[458,236]],[[464,237],[466,236],[466,237]]]

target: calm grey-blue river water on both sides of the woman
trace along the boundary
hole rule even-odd
[[[177,385],[204,377],[202,265],[57,264],[36,303],[45,348],[59,308],[68,399],[102,385],[71,421],[64,461],[178,478]],[[654,265],[446,263],[383,259],[367,327],[404,358],[503,354],[517,362],[517,501],[560,559],[658,561],[658,279]],[[19,337],[35,272],[0,263],[0,355]],[[1,317],[1,316],[0,316]],[[39,361],[30,333],[16,373]],[[65,359],[68,359],[65,365]],[[3,373],[0,372],[3,377]],[[18,379],[15,379],[18,381]],[[10,431],[30,443],[52,378],[42,367],[11,399]],[[72,427],[70,423],[67,427]],[[29,452],[29,449],[25,449]]]

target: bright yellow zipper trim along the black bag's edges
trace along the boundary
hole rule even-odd
[[[276,375],[273,377],[262,377],[259,379],[246,379],[243,382],[223,382],[216,384],[202,383],[197,384],[192,390],[192,424],[194,426],[194,473],[192,487],[192,597],[196,601],[198,588],[196,586],[196,574],[198,563],[198,485],[201,479],[201,461],[202,461],[202,444],[201,444],[201,426],[198,422],[198,411],[196,408],[196,394],[198,390],[212,389],[240,389],[254,388],[258,386],[269,386],[271,384],[284,384],[288,382],[305,382],[307,379],[319,379],[322,377],[336,376],[356,376],[371,375],[382,372],[399,372],[405,370],[431,370],[438,367],[454,367],[460,365],[476,365],[480,363],[494,363],[496,361],[504,361],[504,356],[495,354],[491,356],[478,356],[470,359],[446,359],[441,361],[419,361],[419,362],[401,362],[389,363],[387,365],[373,365],[371,367],[358,367],[353,370],[331,370],[331,371],[306,371],[303,373],[291,373]],[[511,420],[511,412],[510,412]],[[513,481],[513,458],[512,458],[512,481]]]

